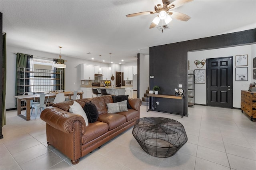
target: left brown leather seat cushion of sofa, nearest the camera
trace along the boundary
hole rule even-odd
[[[89,123],[86,133],[82,135],[82,144],[90,142],[106,132],[108,132],[108,124],[98,121]]]

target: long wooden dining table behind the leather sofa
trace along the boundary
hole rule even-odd
[[[74,95],[74,92],[72,91],[65,91],[61,92],[64,93],[65,96],[72,96]],[[18,95],[14,96],[17,99],[17,111],[18,116],[25,119],[26,121],[30,121],[30,100],[39,99],[39,95]],[[55,98],[57,93],[49,93],[49,98]],[[48,98],[48,95],[46,95],[46,98]],[[80,99],[83,98],[83,92],[77,92],[77,95],[80,95]],[[36,96],[36,97],[35,97]],[[26,116],[21,114],[21,101],[26,101]]]

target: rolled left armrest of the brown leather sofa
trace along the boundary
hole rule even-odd
[[[76,129],[73,128],[73,124],[76,121],[80,121],[82,125],[82,134],[85,133],[86,124],[81,115],[64,111],[58,107],[48,107],[44,109],[40,118],[50,126],[61,130],[64,133],[74,132]]]

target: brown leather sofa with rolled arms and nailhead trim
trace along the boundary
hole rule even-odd
[[[40,116],[46,122],[48,145],[68,156],[72,164],[77,164],[82,156],[132,127],[140,118],[142,102],[138,98],[128,98],[132,109],[119,113],[107,113],[106,103],[113,103],[111,95],[75,101],[82,107],[90,101],[96,105],[98,120],[86,126],[81,115],[68,112],[74,101],[55,103],[52,107],[44,109]]]

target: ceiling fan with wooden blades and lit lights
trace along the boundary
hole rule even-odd
[[[160,20],[164,20],[166,24],[170,23],[172,21],[172,18],[180,20],[180,21],[188,21],[191,17],[182,14],[180,12],[172,11],[175,8],[178,8],[190,1],[193,0],[174,0],[173,2],[170,2],[168,0],[154,0],[155,4],[155,10],[154,11],[146,11],[146,12],[138,12],[134,14],[128,14],[126,17],[133,17],[133,16],[140,16],[140,15],[148,15],[148,14],[156,14],[158,13],[158,16],[154,18],[152,23],[150,24],[149,28],[154,28],[157,26],[160,22]]]

